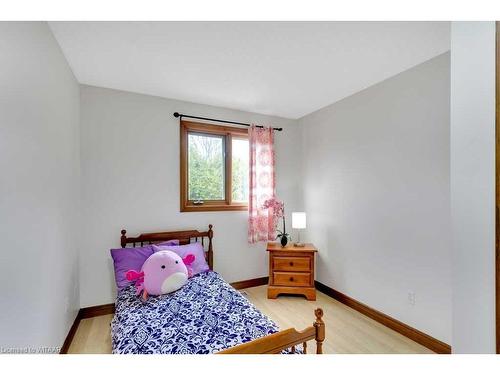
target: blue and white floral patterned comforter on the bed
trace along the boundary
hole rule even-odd
[[[113,353],[120,354],[215,353],[277,331],[276,323],[213,271],[146,302],[134,287],[125,288],[111,322]]]

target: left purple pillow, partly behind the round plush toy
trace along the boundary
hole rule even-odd
[[[128,270],[140,271],[142,265],[154,253],[153,246],[144,247],[124,247],[119,249],[111,249],[111,257],[115,266],[115,280],[118,290],[133,284],[125,277]]]

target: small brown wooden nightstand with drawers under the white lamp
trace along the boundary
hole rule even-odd
[[[314,256],[318,251],[313,244],[282,247],[279,243],[268,242],[269,286],[267,298],[277,298],[278,294],[302,294],[308,300],[316,300],[314,287]]]

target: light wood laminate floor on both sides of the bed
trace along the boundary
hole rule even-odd
[[[317,292],[316,301],[303,297],[280,296],[267,299],[267,286],[241,290],[280,329],[304,329],[314,321],[314,309],[323,308],[326,325],[325,353],[432,353],[429,349]],[[83,319],[69,353],[111,353],[109,324],[113,315]],[[315,350],[310,342],[309,351]]]

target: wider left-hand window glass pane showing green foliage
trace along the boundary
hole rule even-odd
[[[188,199],[224,200],[224,137],[188,134]]]

